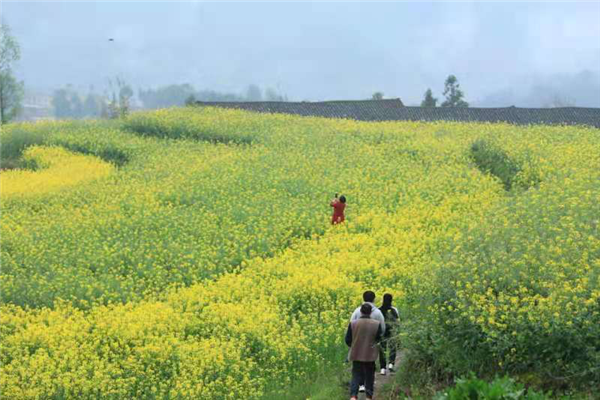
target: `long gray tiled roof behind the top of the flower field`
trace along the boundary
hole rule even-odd
[[[600,108],[450,108],[404,107],[400,99],[324,102],[197,102],[199,106],[238,108],[359,121],[460,121],[590,125],[600,128]]]

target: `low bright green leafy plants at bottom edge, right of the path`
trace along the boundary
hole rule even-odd
[[[492,382],[477,379],[474,374],[458,379],[452,389],[439,393],[435,400],[545,400],[543,393],[526,390],[509,377],[496,378]]]

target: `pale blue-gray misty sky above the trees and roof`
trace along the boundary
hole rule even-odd
[[[136,91],[255,83],[291,100],[382,91],[415,104],[428,87],[441,97],[455,74],[475,104],[560,94],[600,107],[600,2],[3,2],[0,11],[30,89],[101,91],[119,75]]]

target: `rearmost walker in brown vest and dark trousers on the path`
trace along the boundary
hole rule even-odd
[[[359,319],[350,322],[346,331],[346,344],[350,347],[348,360],[352,361],[350,398],[358,399],[358,387],[364,382],[367,400],[373,398],[375,361],[379,355],[377,343],[381,340],[379,321],[371,319],[373,306],[365,303],[360,307]]]

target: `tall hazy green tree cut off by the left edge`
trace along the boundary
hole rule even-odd
[[[10,27],[0,23],[0,124],[17,116],[22,107],[24,83],[12,73],[12,65],[21,58],[21,49]]]

